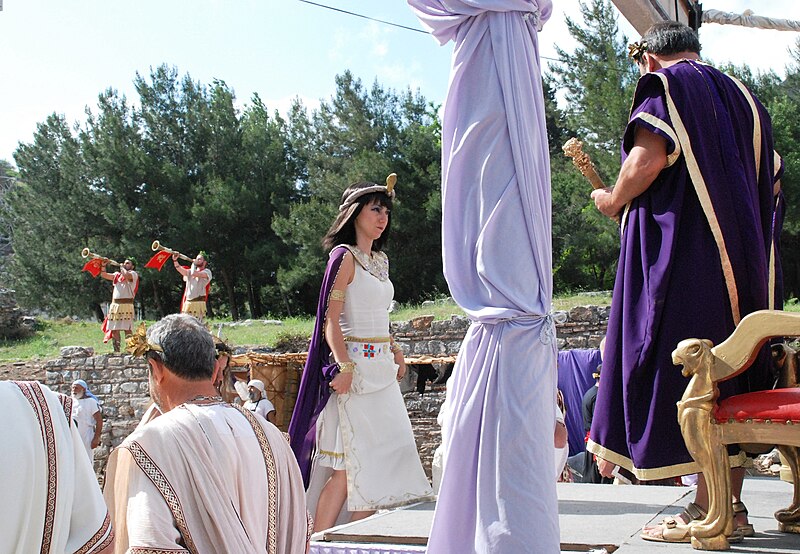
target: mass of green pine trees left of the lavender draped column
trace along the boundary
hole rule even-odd
[[[134,83],[138,107],[108,89],[83,125],[52,115],[15,154],[21,179],[4,213],[24,304],[100,316],[108,284],[77,270],[89,247],[138,258],[145,315],[175,311],[183,285],[171,264],[142,267],[157,239],[208,253],[211,307],[222,314],[313,311],[320,239],[341,192],[391,172],[397,297],[444,289],[438,118],[418,94],[367,90],[345,73],[329,102],[311,114],[297,103],[284,120],[257,95],[240,108],[225,82],[205,86],[168,66]]]

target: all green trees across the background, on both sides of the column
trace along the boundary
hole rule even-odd
[[[578,43],[558,49],[544,78],[553,198],[557,292],[613,285],[619,231],[590,199],[590,186],[564,157],[585,143],[611,185],[637,72],[608,0],[580,3],[568,20]],[[769,110],[786,162],[783,267],[787,295],[800,295],[800,43],[781,80],[729,67]],[[420,301],[447,290],[441,261],[441,128],[438,107],[411,90],[365,85],[350,72],[310,110],[296,101],[270,111],[258,95],[237,101],[224,81],[196,82],[159,66],[134,80],[138,98],[114,89],[71,125],[53,114],[0,161],[0,236],[13,253],[0,267],[21,304],[53,315],[101,314],[107,282],[78,268],[82,248],[138,258],[145,317],[177,310],[183,290],[170,264],[144,269],[150,244],[194,256],[205,250],[215,279],[210,307],[234,319],[314,311],[326,253],[321,238],[342,191],[397,173],[387,245],[395,296]],[[560,99],[561,101],[557,101]]]

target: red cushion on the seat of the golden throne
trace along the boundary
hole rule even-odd
[[[730,420],[773,423],[800,423],[800,388],[749,392],[731,396],[714,409],[717,423]]]

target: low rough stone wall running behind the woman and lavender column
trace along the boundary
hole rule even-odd
[[[607,307],[580,306],[560,312],[556,317],[561,318],[561,314],[564,321],[556,325],[560,349],[599,345],[608,320]],[[407,357],[444,357],[458,353],[468,327],[469,320],[462,316],[443,321],[424,316],[393,323],[392,332]],[[442,370],[441,367],[437,369]],[[45,383],[53,390],[70,394],[72,382],[83,379],[103,402],[103,433],[100,446],[95,450],[95,470],[102,478],[110,450],[136,427],[150,402],[144,360],[127,355],[95,356],[91,349],[65,348],[60,358],[45,362],[43,370]],[[429,384],[420,394],[411,390],[415,383],[415,368],[411,366],[403,383],[404,397],[423,467],[430,477],[433,453],[441,442],[436,416],[444,401],[445,386]]]

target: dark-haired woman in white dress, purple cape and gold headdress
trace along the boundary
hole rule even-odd
[[[381,249],[395,179],[351,185],[323,239],[331,254],[289,428],[304,475],[310,461],[315,531],[433,494],[398,385],[403,353],[389,335],[394,287]]]

